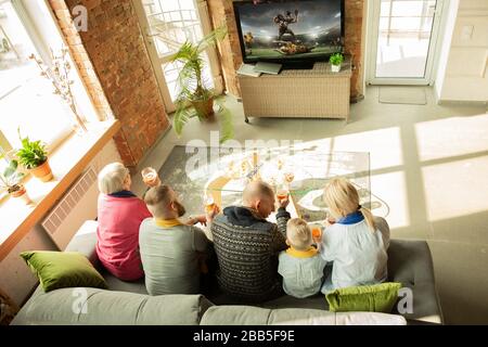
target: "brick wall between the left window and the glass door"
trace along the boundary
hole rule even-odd
[[[136,166],[169,124],[131,1],[48,1],[99,113],[121,123],[121,159]],[[88,10],[87,31],[73,26],[78,4]]]

